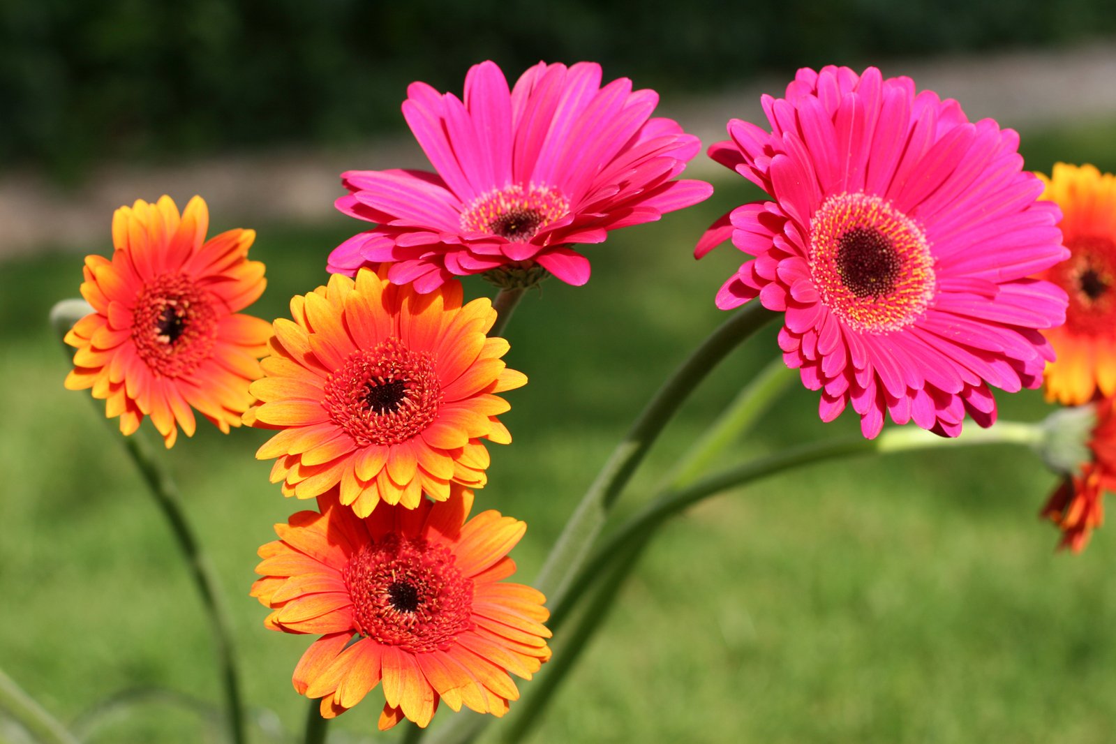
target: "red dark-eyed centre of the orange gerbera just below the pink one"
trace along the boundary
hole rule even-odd
[[[433,357],[397,338],[350,354],[325,393],[329,417],[359,446],[410,439],[434,422],[442,402]]]

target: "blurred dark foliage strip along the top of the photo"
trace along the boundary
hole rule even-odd
[[[0,165],[74,178],[402,127],[406,85],[460,93],[591,59],[606,79],[698,93],[761,70],[1065,44],[1116,30],[1110,0],[0,0]]]

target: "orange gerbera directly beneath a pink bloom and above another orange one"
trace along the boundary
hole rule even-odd
[[[523,385],[507,369],[508,342],[487,338],[488,299],[462,306],[461,283],[430,294],[395,287],[364,269],[290,302],[275,321],[259,400],[244,416],[281,429],[256,456],[278,457],[272,482],[309,499],[340,484],[340,501],[367,516],[383,500],[415,508],[450,482],[483,485],[488,451],[507,444],[497,419],[510,407],[493,395]]]

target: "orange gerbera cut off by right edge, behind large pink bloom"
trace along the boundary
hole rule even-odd
[[[1058,358],[1046,367],[1046,396],[1081,405],[1116,394],[1116,177],[1091,165],[1054,166],[1042,199],[1061,207],[1069,259],[1039,274],[1069,294],[1066,325],[1045,331]]]

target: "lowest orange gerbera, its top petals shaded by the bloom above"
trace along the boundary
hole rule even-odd
[[[473,494],[414,510],[381,506],[359,519],[337,489],[319,511],[277,524],[260,548],[252,596],[273,630],[324,634],[295,667],[295,689],[337,716],[383,683],[379,728],[403,717],[426,726],[439,700],[502,716],[519,697],[511,671],[530,679],[550,657],[537,590],[501,581],[527,525],[487,511],[465,522]]]

